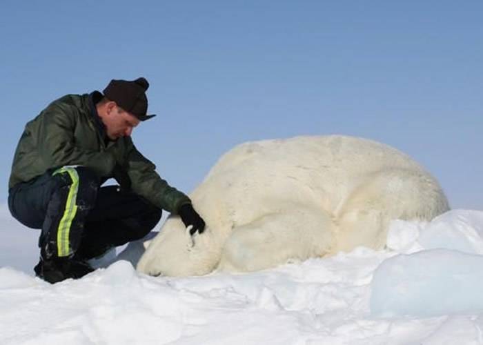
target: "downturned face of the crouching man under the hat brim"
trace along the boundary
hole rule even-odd
[[[129,137],[132,130],[141,122],[137,117],[122,110],[115,103],[112,106],[108,106],[106,115],[102,121],[106,125],[106,132],[110,140]]]

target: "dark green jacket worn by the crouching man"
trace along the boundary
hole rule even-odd
[[[106,145],[92,107],[89,94],[66,95],[29,121],[15,151],[9,188],[61,166],[92,168],[102,180],[114,177],[115,167],[122,167],[132,192],[155,206],[177,213],[179,206],[190,203],[159,177],[156,166],[139,153],[130,137]]]

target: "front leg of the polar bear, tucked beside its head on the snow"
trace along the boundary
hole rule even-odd
[[[322,256],[333,246],[330,215],[293,207],[237,226],[226,240],[218,270],[249,272]]]

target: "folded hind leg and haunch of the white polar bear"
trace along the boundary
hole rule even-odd
[[[426,172],[403,168],[375,172],[362,179],[341,208],[336,248],[383,248],[393,219],[429,221],[448,209],[442,189]]]

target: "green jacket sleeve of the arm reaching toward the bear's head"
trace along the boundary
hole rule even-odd
[[[132,191],[170,213],[177,213],[181,205],[190,204],[190,198],[161,179],[155,164],[141,155],[130,139],[128,141],[127,171]]]

